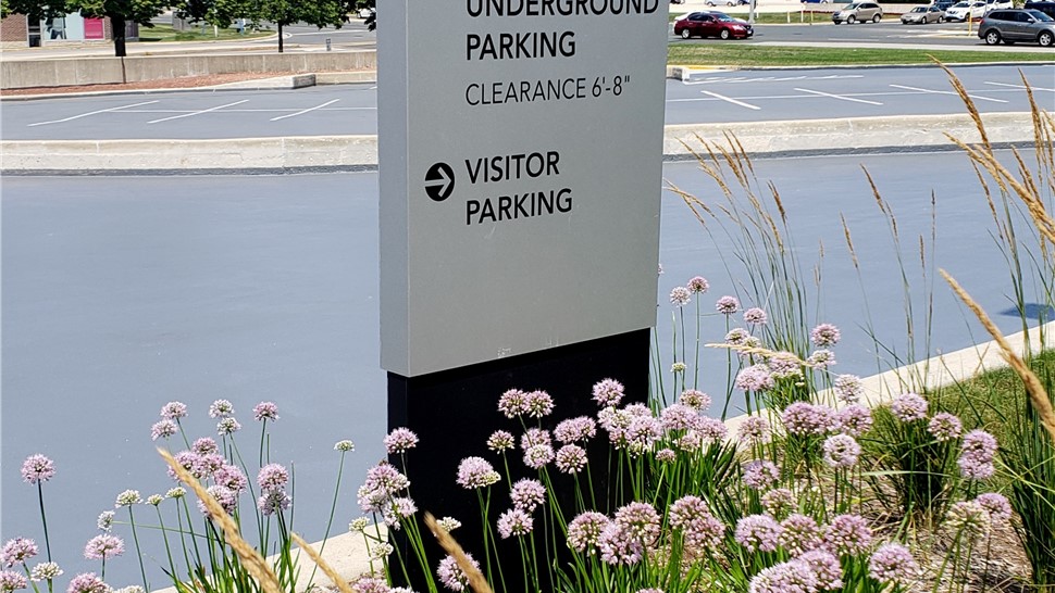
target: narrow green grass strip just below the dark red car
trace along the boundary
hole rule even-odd
[[[667,63],[681,66],[837,66],[869,64],[1052,62],[1051,50],[1035,52],[948,51],[880,48],[796,48],[735,41],[685,41],[667,48]]]

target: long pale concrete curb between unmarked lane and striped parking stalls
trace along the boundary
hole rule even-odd
[[[995,144],[1033,140],[1028,112],[989,113],[982,121]],[[947,150],[954,144],[946,135],[967,142],[980,140],[967,114],[693,124],[665,128],[663,156],[693,159],[704,150],[704,142],[724,143],[729,134],[748,154],[759,156]],[[376,136],[0,141],[4,174],[274,173],[376,166]]]

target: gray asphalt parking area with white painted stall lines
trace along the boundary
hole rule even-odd
[[[1027,111],[1019,72],[1055,109],[1055,64],[957,68],[982,112]],[[373,85],[165,92],[5,102],[5,140],[239,138],[376,134]],[[963,112],[935,67],[700,72],[667,81],[667,123]]]

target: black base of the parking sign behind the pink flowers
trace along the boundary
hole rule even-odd
[[[458,464],[468,456],[484,457],[494,464],[495,469],[505,474],[501,458],[487,450],[487,437],[495,430],[502,429],[519,439],[523,429],[519,421],[507,419],[498,412],[498,398],[509,389],[546,391],[553,396],[555,404],[554,414],[543,421],[543,427],[547,429],[553,429],[558,421],[566,418],[596,417],[598,407],[592,400],[592,389],[601,379],[612,378],[623,383],[626,392],[623,405],[635,401],[644,403],[648,398],[649,338],[650,330],[642,329],[418,377],[389,373],[388,428],[407,427],[420,438],[418,447],[409,452],[407,460],[410,492],[418,508],[432,513],[437,519],[450,516],[461,521],[462,527],[451,534],[467,552],[482,560],[483,535],[476,492],[459,487],[455,479]],[[607,449],[604,442],[606,439],[604,432],[599,431],[595,439],[597,446],[591,447],[589,463],[593,478],[597,482],[593,484],[595,492],[607,492],[609,487],[605,472],[607,457],[593,454],[594,451],[604,452]],[[537,476],[537,472],[524,466],[522,455],[519,447],[509,452],[513,480]],[[396,466],[401,465],[396,456],[389,462]],[[570,501],[572,482],[561,479],[553,466],[549,474],[557,477],[555,488],[561,490],[557,493],[558,496]],[[501,513],[512,506],[509,487],[505,478],[492,487],[492,526]],[[609,509],[598,510],[605,513]],[[536,525],[541,523],[539,510],[535,512],[535,517]],[[566,520],[571,518],[566,517]],[[427,530],[424,530],[424,535],[431,539]],[[536,533],[536,538],[543,535],[541,530]],[[548,537],[551,538],[553,534]],[[396,543],[406,545],[399,538]],[[558,550],[562,548],[563,542],[559,542]],[[502,593],[518,593],[523,588],[520,548],[516,543],[501,542],[499,554],[507,571],[506,591]],[[404,558],[410,557],[404,553]],[[438,548],[429,550],[432,575],[435,576],[443,557],[444,554]],[[560,558],[553,560],[563,562]],[[424,591],[420,568],[412,568],[412,582],[402,584],[411,584],[415,590]],[[401,570],[394,566],[392,572],[397,577],[397,582],[402,580]],[[534,583],[530,586],[534,590]],[[548,590],[548,586],[543,585],[542,589]]]

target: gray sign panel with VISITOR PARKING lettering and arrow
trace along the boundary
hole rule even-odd
[[[666,2],[383,4],[382,366],[650,327]]]

